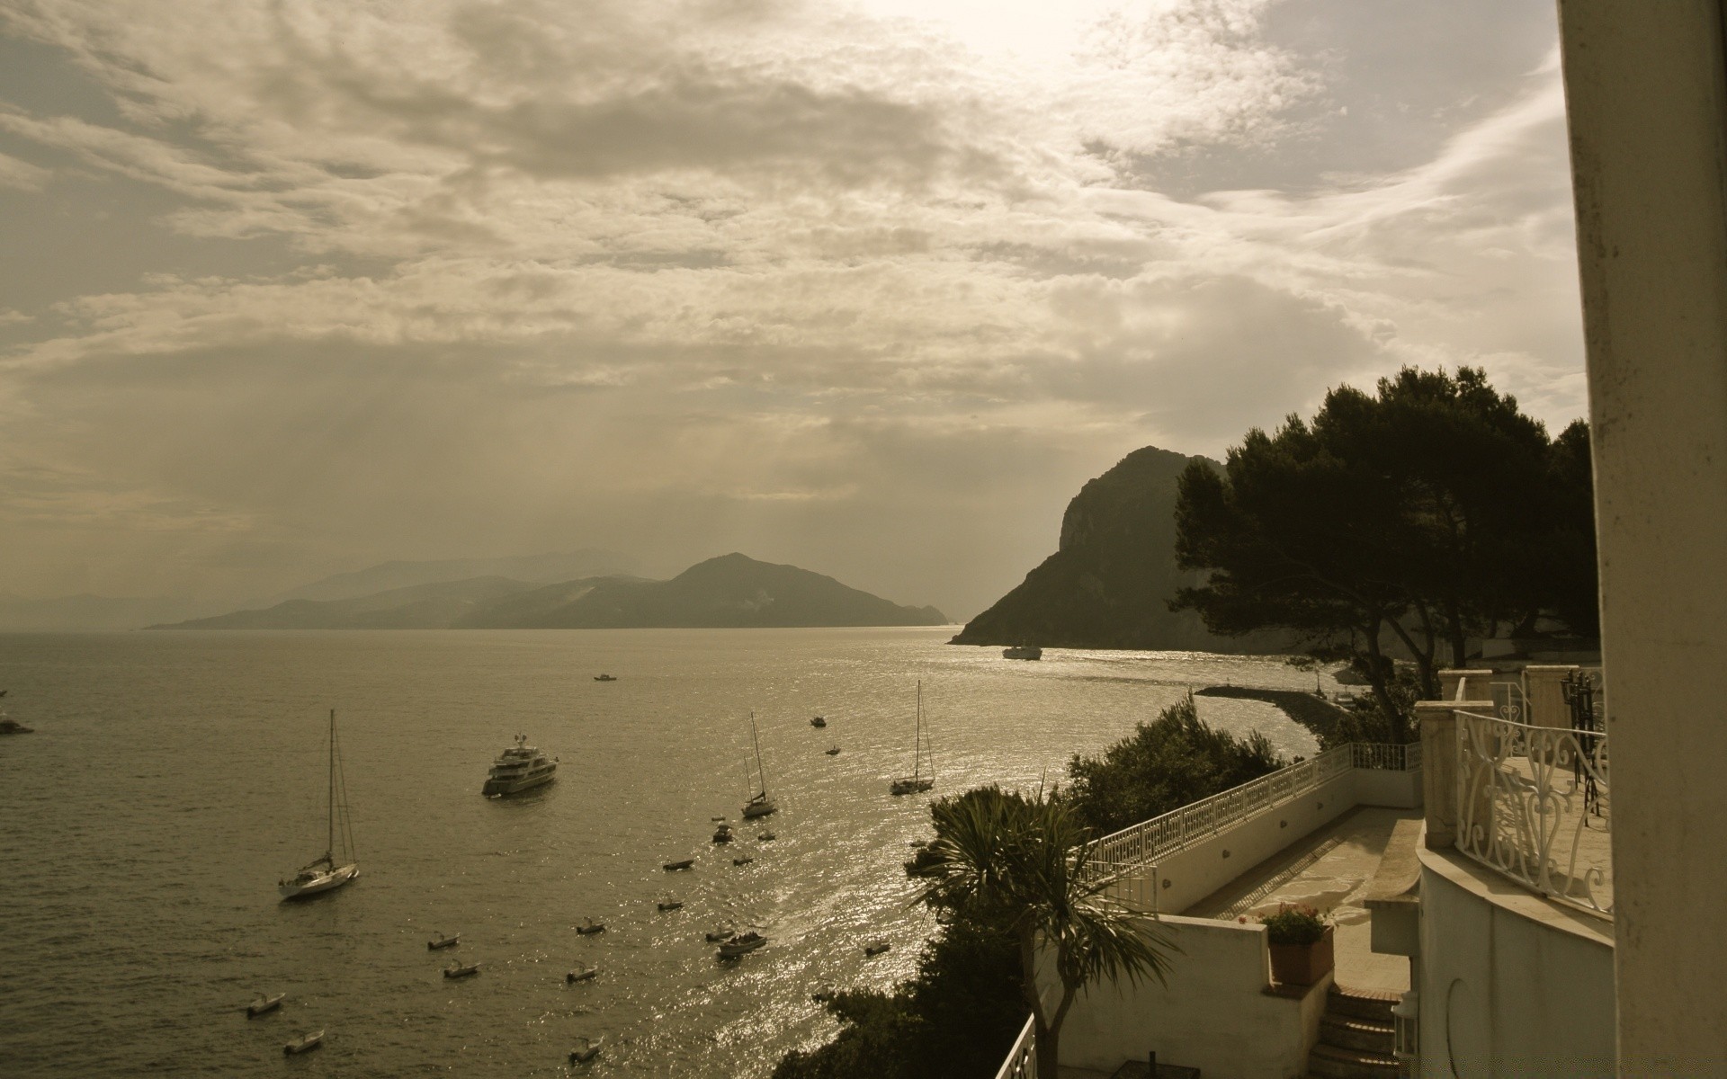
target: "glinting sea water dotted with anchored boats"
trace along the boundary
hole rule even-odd
[[[919,680],[933,794],[1060,779],[1193,685],[1313,685],[1276,659],[1014,663],[948,634],[0,635],[0,687],[36,727],[0,739],[0,1072],[765,1076],[831,1036],[812,988],[884,988],[934,929],[900,868],[927,798],[886,792]],[[323,849],[328,708],[361,879],[283,905],[276,879]],[[777,841],[751,823],[713,846],[710,818],[737,822],[751,710]],[[1200,711],[1314,749],[1264,704]],[[485,799],[516,732],[561,758],[558,780]],[[660,868],[675,858],[696,868]],[[665,898],[684,908],[658,913]],[[589,917],[608,932],[579,936]],[[770,944],[717,962],[703,932],[724,920]],[[461,946],[427,951],[437,932]],[[876,937],[893,951],[867,960]],[[482,972],[446,981],[452,956]],[[599,977],[565,986],[579,965]],[[259,993],[288,998],[247,1020]],[[319,1027],[323,1050],[283,1058]],[[601,1034],[599,1062],[563,1063]]]

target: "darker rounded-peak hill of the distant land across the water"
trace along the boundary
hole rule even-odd
[[[724,554],[672,580],[599,578],[511,596],[466,616],[485,628],[946,625],[934,608],[905,608],[798,566]]]

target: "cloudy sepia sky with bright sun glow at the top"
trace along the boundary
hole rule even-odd
[[[1551,0],[0,0],[0,594],[964,620],[1126,452],[1404,364],[1585,413]]]

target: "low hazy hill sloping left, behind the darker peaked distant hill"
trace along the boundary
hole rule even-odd
[[[537,585],[504,577],[473,577],[389,589],[354,599],[288,599],[261,611],[193,618],[152,630],[440,630],[487,603]]]

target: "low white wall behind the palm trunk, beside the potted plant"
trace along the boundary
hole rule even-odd
[[[1181,950],[1171,956],[1169,986],[1083,991],[1062,1025],[1060,1062],[1109,1074],[1155,1050],[1162,1063],[1205,1076],[1302,1076],[1332,979],[1302,996],[1273,996],[1264,925],[1181,917],[1159,925]],[[1053,1003],[1057,981],[1043,974],[1043,998]]]

